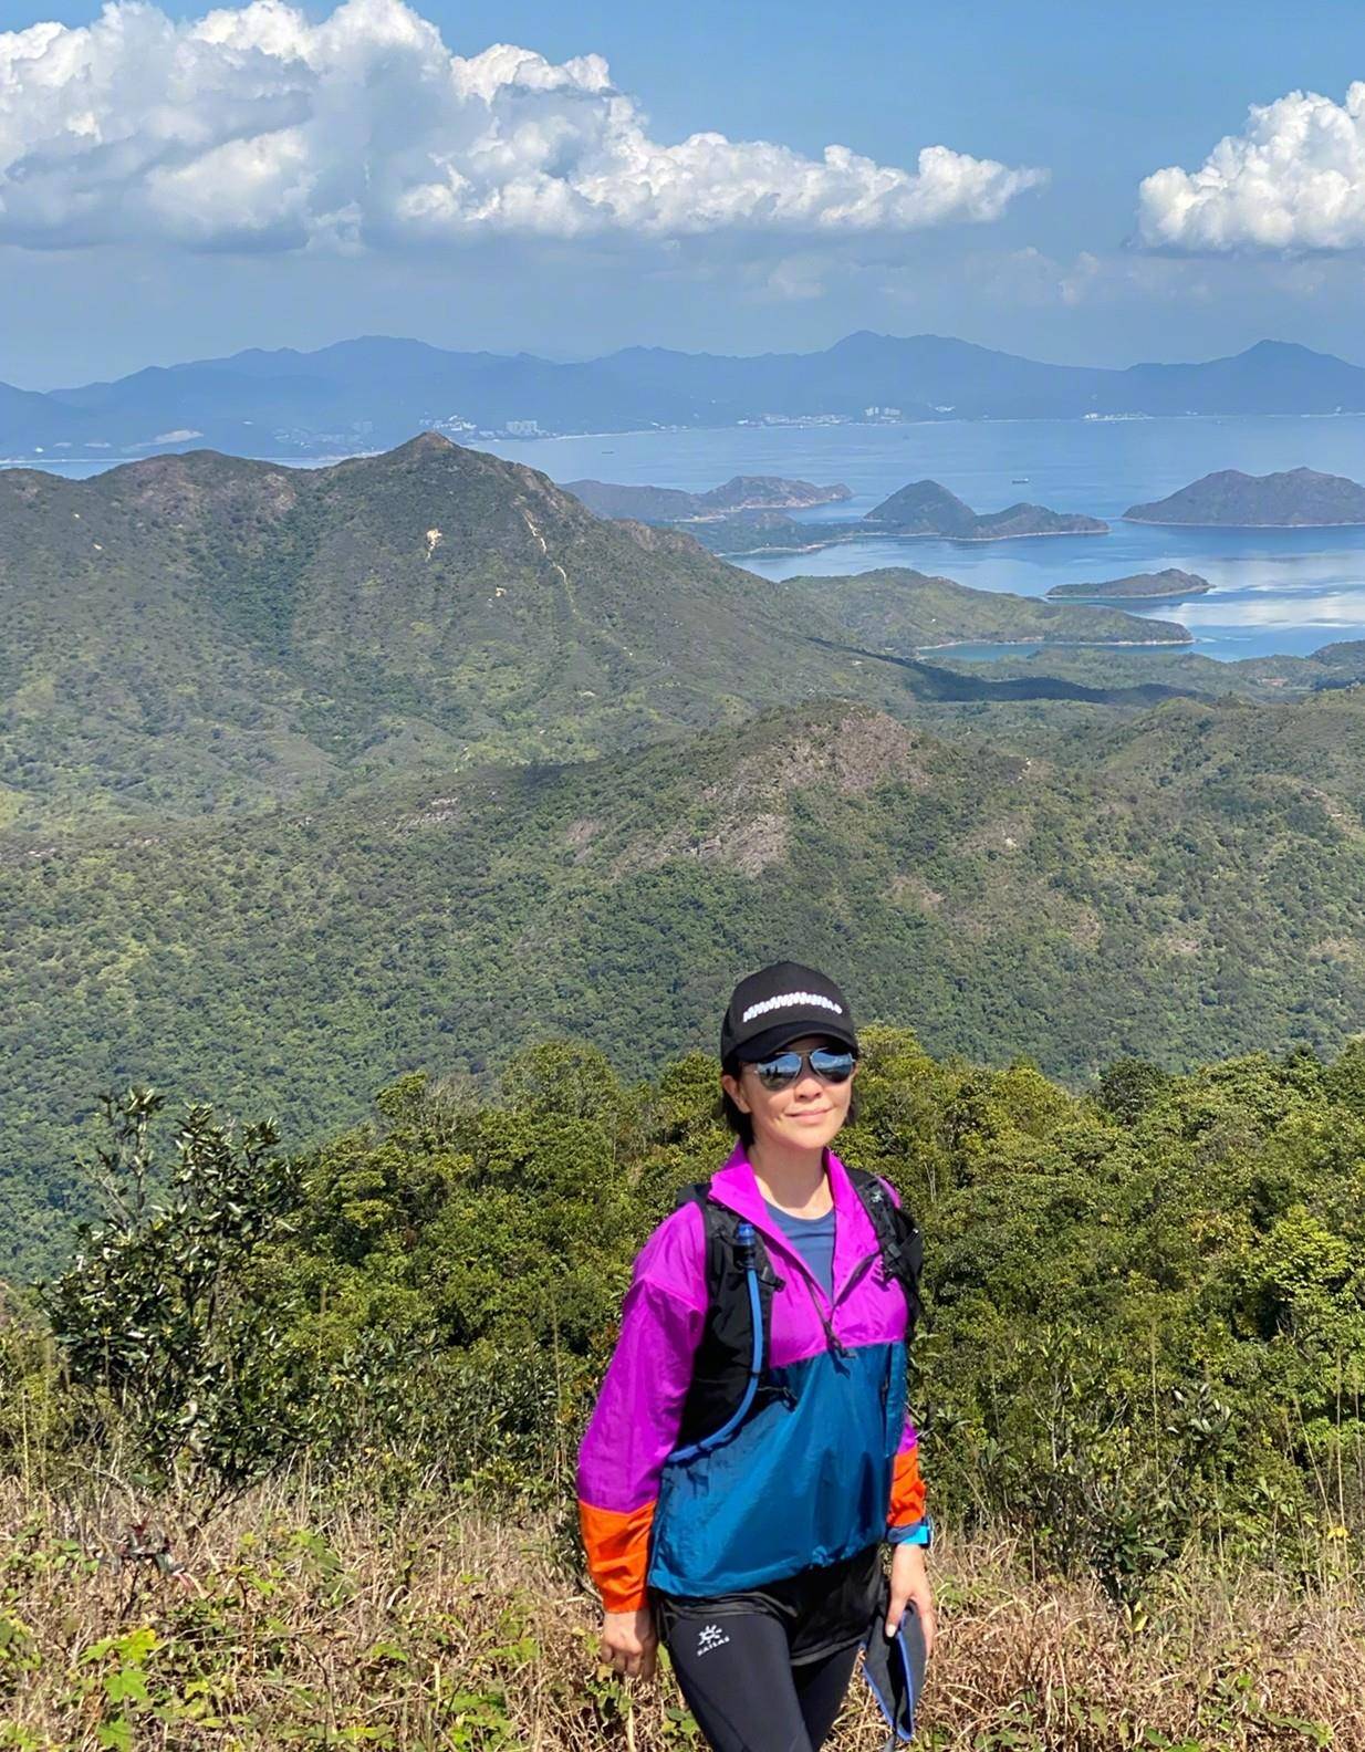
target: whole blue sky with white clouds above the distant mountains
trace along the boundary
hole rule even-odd
[[[19,387],[359,333],[1365,361],[1361,291],[1358,0],[0,5]]]

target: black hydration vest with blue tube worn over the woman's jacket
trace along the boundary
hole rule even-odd
[[[920,1316],[920,1270],[923,1240],[915,1219],[862,1169],[846,1169],[876,1235],[878,1265],[885,1282],[901,1286],[906,1298],[906,1342]],[[710,1183],[683,1186],[678,1207],[696,1204],[706,1232],[706,1330],[692,1363],[692,1384],[683,1402],[680,1445],[669,1459],[696,1459],[725,1442],[755,1405],[785,1398],[787,1389],[767,1370],[773,1330],[773,1291],[783,1279],[773,1272],[764,1237],[729,1205],[710,1195]],[[818,1309],[818,1303],[817,1303]],[[832,1351],[843,1351],[820,1310]]]

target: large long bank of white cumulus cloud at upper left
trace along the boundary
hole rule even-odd
[[[0,242],[384,247],[908,231],[997,219],[1043,172],[944,145],[913,170],[843,145],[650,138],[606,61],[470,58],[403,0],[312,23],[284,0],[173,21],[110,0],[0,33]]]

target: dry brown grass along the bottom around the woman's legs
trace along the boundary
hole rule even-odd
[[[0,1745],[697,1743],[668,1677],[627,1689],[596,1670],[592,1603],[541,1521],[429,1500],[324,1512],[279,1489],[198,1537],[152,1521],[140,1549],[165,1533],[184,1565],[161,1573],[168,1559],[117,1558],[128,1519],[116,1493],[77,1508],[0,1487]],[[1190,1566],[1125,1626],[1093,1587],[1030,1577],[1004,1540],[944,1540],[934,1575],[925,1745],[1365,1752],[1358,1577],[1328,1568],[1295,1593]],[[881,1743],[859,1684],[838,1752]]]

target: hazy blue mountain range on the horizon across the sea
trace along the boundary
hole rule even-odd
[[[366,336],[249,350],[47,394],[0,384],[0,456],[210,445],[237,456],[454,438],[790,420],[1125,419],[1365,412],[1365,370],[1284,342],[1202,364],[1044,364],[939,335],[848,335],[824,352],[629,347],[561,364]]]

